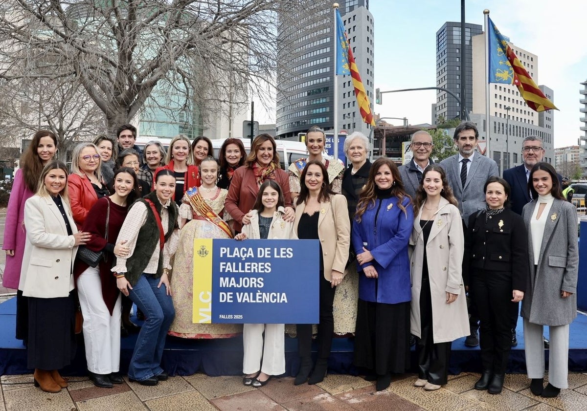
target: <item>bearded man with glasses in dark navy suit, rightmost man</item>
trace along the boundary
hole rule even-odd
[[[512,211],[522,215],[522,209],[527,203],[532,201],[528,191],[528,179],[530,171],[537,163],[544,158],[544,144],[542,138],[537,135],[528,135],[522,141],[522,164],[508,168],[504,171],[504,180],[510,185],[510,202]],[[558,175],[559,182],[562,186],[562,176]],[[518,313],[514,318],[514,328],[512,328],[512,347],[518,345],[518,339],[515,335],[515,325],[518,322]],[[548,340],[544,338],[544,345],[548,347]]]

